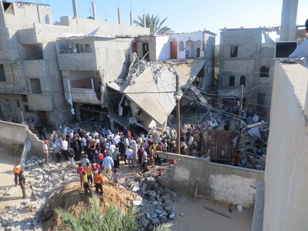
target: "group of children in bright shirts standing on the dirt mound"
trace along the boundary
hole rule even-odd
[[[95,184],[95,192],[98,194],[100,190],[101,195],[103,196],[104,176],[102,175],[102,171],[99,169],[99,164],[97,164],[95,161],[93,162],[94,163],[91,165],[89,162],[87,162],[86,167],[83,167],[81,162],[79,163],[79,167],[77,168],[77,174],[79,174],[80,176],[80,189],[82,190],[83,187],[85,193],[91,193],[91,182],[91,186],[93,185],[93,183]],[[114,169],[111,180],[113,180],[115,188],[120,187],[121,178],[117,168]]]

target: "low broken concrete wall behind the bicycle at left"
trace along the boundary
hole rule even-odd
[[[11,144],[24,144],[25,138],[31,142],[31,155],[43,156],[43,141],[32,134],[26,125],[0,121],[0,146],[9,148]]]

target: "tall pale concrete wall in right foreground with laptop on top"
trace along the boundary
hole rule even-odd
[[[307,68],[275,63],[263,231],[308,230],[307,84]]]

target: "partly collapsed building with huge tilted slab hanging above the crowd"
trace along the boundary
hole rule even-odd
[[[215,34],[209,31],[136,37],[63,34],[56,43],[65,96],[77,121],[108,117],[111,126],[164,127],[175,107],[176,75],[180,89],[198,75],[202,89],[213,87]],[[211,71],[203,71],[205,65]]]

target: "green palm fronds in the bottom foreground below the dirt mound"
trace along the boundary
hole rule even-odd
[[[61,216],[64,225],[72,231],[135,231],[138,228],[136,217],[138,208],[130,205],[128,211],[123,211],[123,205],[116,208],[113,203],[109,205],[105,214],[99,209],[99,197],[92,192],[93,204],[91,209],[84,209],[79,216],[66,210],[54,209]],[[156,226],[153,231],[171,231],[172,223],[163,223]]]

